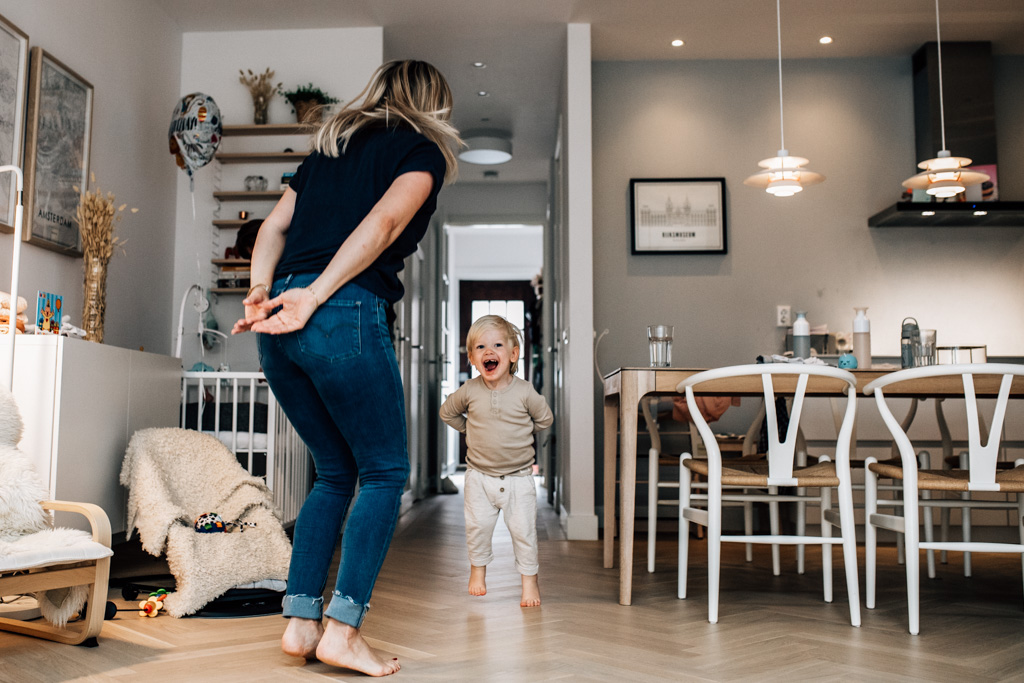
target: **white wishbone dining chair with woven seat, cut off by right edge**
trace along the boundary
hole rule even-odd
[[[968,452],[964,460],[964,469],[919,469],[916,454],[906,431],[893,416],[886,401],[886,389],[893,387],[892,393],[898,393],[900,383],[927,382],[936,377],[959,377],[964,383],[964,405],[967,412]],[[997,387],[997,398],[991,420],[991,429],[987,436],[981,432],[981,419],[978,412],[976,384],[986,382]],[[920,551],[961,551],[988,553],[1019,553],[1024,559],[1024,460],[1019,460],[1013,469],[998,467],[998,454],[1002,425],[1005,424],[1010,390],[1014,382],[1024,382],[1024,366],[1009,364],[974,364],[959,366],[927,366],[911,368],[893,373],[874,380],[866,387],[864,393],[873,395],[879,412],[886,426],[892,433],[899,449],[901,465],[890,465],[876,462],[868,458],[865,481],[865,524],[864,545],[867,573],[867,607],[874,607],[876,563],[877,563],[877,528],[886,528],[905,538],[906,544],[906,586],[907,608],[909,612],[909,631],[916,635],[920,632],[920,588],[921,558]],[[982,439],[985,438],[985,442]],[[882,514],[878,511],[878,480],[886,477],[902,481],[903,515]],[[992,502],[938,498],[925,498],[929,493],[956,492],[970,494],[975,492],[999,492],[1014,494],[1017,497],[1017,525],[1019,527],[1019,543],[976,543],[965,541],[921,541],[920,508],[935,507],[992,507]],[[913,503],[916,504],[913,504]],[[994,505],[1004,505],[994,503]],[[927,528],[927,527],[926,527]]]

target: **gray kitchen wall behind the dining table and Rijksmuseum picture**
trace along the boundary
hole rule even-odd
[[[938,330],[940,344],[1021,355],[1024,227],[867,227],[919,161],[909,57],[783,61],[786,145],[827,178],[788,199],[742,184],[778,148],[776,69],[594,65],[594,327],[609,330],[601,371],[646,365],[651,323],[676,326],[679,367],[778,352],[776,304],[831,331],[850,330],[853,307],[869,306],[876,355],[897,353],[905,315]],[[1021,201],[1024,57],[997,57],[995,77],[1000,197]],[[726,179],[727,255],[630,255],[630,178],[715,176]],[[742,417],[727,414],[722,428],[745,429]]]

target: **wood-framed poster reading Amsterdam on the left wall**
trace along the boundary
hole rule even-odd
[[[81,256],[75,187],[88,187],[92,85],[41,47],[31,50],[29,74],[23,238]]]

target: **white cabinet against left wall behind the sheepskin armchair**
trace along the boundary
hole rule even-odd
[[[22,452],[51,498],[95,503],[115,533],[126,526],[119,476],[128,440],[138,429],[176,427],[180,392],[178,358],[68,337],[17,337]]]

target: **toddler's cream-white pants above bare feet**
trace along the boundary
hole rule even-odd
[[[469,562],[481,567],[495,555],[490,538],[499,511],[512,536],[515,568],[531,577],[537,573],[537,484],[532,475],[488,476],[466,470],[466,544]]]

